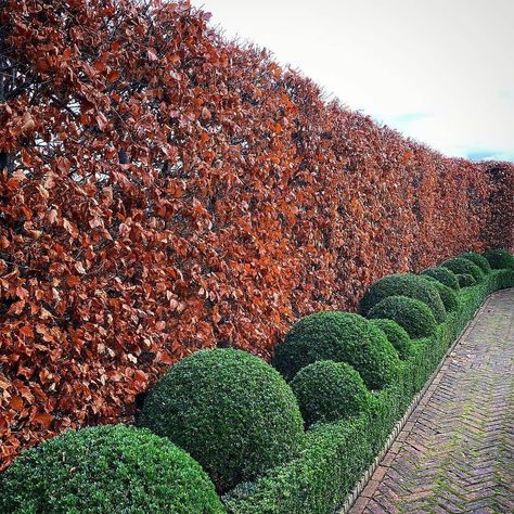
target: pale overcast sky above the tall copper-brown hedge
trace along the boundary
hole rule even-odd
[[[514,0],[193,0],[352,110],[447,155],[514,162]]]

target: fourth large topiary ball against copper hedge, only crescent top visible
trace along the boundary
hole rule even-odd
[[[388,296],[408,296],[419,299],[431,308],[438,323],[442,323],[446,319],[447,313],[437,288],[412,273],[391,274],[370,285],[360,301],[361,312],[368,314],[376,304]]]

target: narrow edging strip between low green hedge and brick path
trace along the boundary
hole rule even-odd
[[[480,310],[484,309],[487,306],[487,304],[489,303],[489,299],[491,298],[491,296],[494,293],[497,293],[497,292],[491,293],[490,295],[488,295],[484,299],[481,305],[476,309],[475,314],[473,316],[473,318],[467,322],[467,324],[464,326],[462,332],[459,334],[459,336],[452,343],[450,348],[448,348],[447,352],[445,354],[445,356],[440,360],[439,365],[436,368],[436,370],[432,373],[429,378],[426,381],[423,389],[421,389],[420,393],[417,393],[414,396],[414,398],[412,399],[411,403],[409,404],[409,408],[404,412],[401,420],[396,423],[395,427],[393,428],[389,436],[387,437],[387,440],[386,440],[385,445],[383,446],[382,450],[378,452],[378,454],[375,457],[374,461],[370,464],[368,470],[361,476],[361,478],[359,479],[359,481],[357,483],[357,485],[352,489],[352,491],[350,493],[348,493],[348,496],[346,497],[345,502],[335,510],[335,514],[347,514],[348,511],[354,506],[354,503],[359,498],[361,492],[364,490],[365,486],[370,481],[370,478],[373,476],[373,473],[375,473],[376,468],[378,467],[380,462],[385,457],[385,454],[390,450],[390,447],[396,441],[396,438],[398,437],[400,432],[403,429],[403,427],[407,423],[407,420],[410,417],[412,412],[414,412],[415,408],[420,404],[421,400],[423,399],[423,397],[427,393],[428,388],[431,387],[431,385],[435,381],[436,376],[439,374],[439,371],[441,371],[441,368],[445,365],[448,357],[450,357],[450,354],[453,351],[455,346],[462,340],[462,338],[467,334],[467,332],[470,332],[470,330],[473,329],[473,326],[477,322]]]

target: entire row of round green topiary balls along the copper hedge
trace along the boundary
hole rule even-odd
[[[362,298],[368,319],[303,318],[274,368],[241,350],[197,351],[150,391],[139,428],[69,431],[23,452],[0,476],[0,512],[223,512],[218,493],[294,457],[305,426],[369,410],[411,338],[431,336],[457,310],[460,286],[491,267],[514,269],[514,257],[468,253],[421,275],[385,277]]]

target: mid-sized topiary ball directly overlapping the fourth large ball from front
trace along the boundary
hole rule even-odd
[[[429,337],[437,329],[431,309],[423,303],[407,296],[389,296],[375,305],[368,317],[396,321],[412,338]]]

